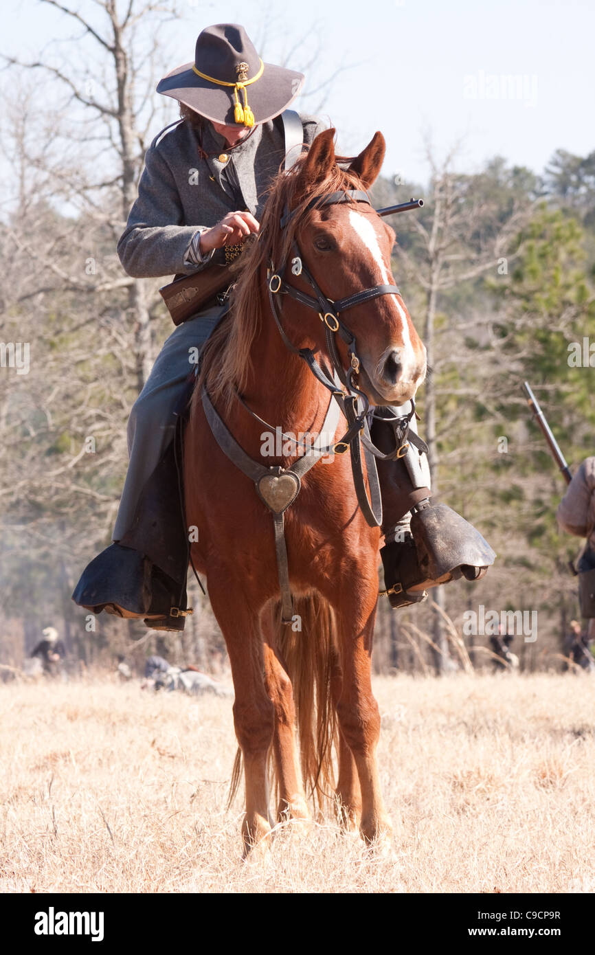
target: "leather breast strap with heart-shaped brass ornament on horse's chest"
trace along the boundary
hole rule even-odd
[[[273,517],[275,534],[275,555],[277,559],[277,574],[281,590],[281,619],[283,624],[291,624],[293,620],[293,599],[289,583],[289,564],[287,561],[287,542],[285,536],[285,512],[294,502],[302,487],[302,478],[308,474],[310,468],[333,450],[334,445],[321,445],[322,435],[334,435],[339,423],[340,409],[332,400],[325,415],[321,433],[307,453],[298,457],[288,468],[279,466],[266,467],[260,461],[255,461],[244,451],[242,445],[231,434],[223,418],[217,412],[206,389],[202,387],[202,409],[209,424],[213,437],[217,441],[223,454],[232,464],[254,481],[256,493],[266,504]]]

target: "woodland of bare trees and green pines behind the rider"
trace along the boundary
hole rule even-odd
[[[88,666],[158,650],[208,668],[222,638],[194,584],[197,612],[181,638],[105,614],[90,629],[71,601],[81,569],[110,542],[128,413],[171,330],[163,281],[126,276],[116,244],[144,152],[176,118],[172,104],[153,96],[159,22],[175,5],[96,6],[93,24],[56,15],[82,28],[81,49],[95,58],[98,78],[88,79],[88,57],[62,50],[43,65],[9,61],[3,91],[1,161],[10,177],[0,221],[0,342],[29,343],[30,367],[18,373],[3,351],[0,663],[18,664],[52,624]],[[140,29],[142,55],[133,42]],[[43,108],[32,96],[32,69],[52,91]],[[350,132],[363,147],[374,131]],[[540,171],[495,157],[465,172],[456,151],[438,159],[430,148],[428,159],[430,180],[378,180],[374,199],[424,198],[422,210],[393,223],[393,272],[431,366],[419,430],[436,499],[475,523],[499,561],[478,584],[434,591],[437,605],[393,613],[381,602],[375,665],[489,665],[486,638],[461,637],[464,611],[484,605],[537,610],[537,641],[517,637],[513,650],[524,668],[558,668],[563,631],[578,614],[567,562],[580,541],[558,531],[563,479],[521,382],[533,386],[569,462],[594,453],[595,152],[561,148]],[[573,343],[586,364],[573,361]]]

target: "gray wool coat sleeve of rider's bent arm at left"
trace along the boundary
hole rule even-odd
[[[204,228],[183,224],[176,181],[159,148],[151,146],[138,183],[138,199],[117,244],[124,271],[135,279],[198,271],[206,262],[188,266],[184,259],[193,236]]]

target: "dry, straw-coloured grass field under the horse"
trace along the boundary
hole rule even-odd
[[[331,817],[241,861],[231,701],[114,682],[0,686],[4,892],[593,892],[595,680],[375,681],[395,825]],[[400,825],[399,825],[400,820]]]

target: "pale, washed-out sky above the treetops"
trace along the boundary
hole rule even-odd
[[[94,0],[66,2],[97,10]],[[267,29],[265,59],[273,62],[298,37],[312,34],[310,50],[320,38],[310,88],[317,75],[348,68],[331,84],[324,113],[345,152],[380,129],[386,175],[426,179],[426,132],[438,154],[464,137],[458,165],[466,171],[499,154],[540,172],[559,147],[580,155],[595,148],[594,0],[181,0],[180,8],[164,32],[168,69],[193,59],[196,36],[212,23],[242,23],[255,41]],[[3,0],[2,9],[3,52],[38,56],[74,32],[37,0]],[[304,69],[306,56],[298,49],[288,65]],[[315,104],[312,97],[297,106],[309,112]]]

